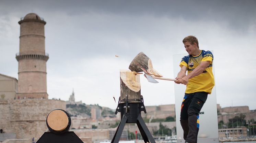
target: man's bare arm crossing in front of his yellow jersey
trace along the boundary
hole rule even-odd
[[[182,84],[187,84],[188,80],[192,77],[195,77],[199,74],[201,74],[209,65],[211,61],[201,61],[200,65],[196,67],[191,73],[187,74],[183,78],[179,79],[177,82],[180,82]]]

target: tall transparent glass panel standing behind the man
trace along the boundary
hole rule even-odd
[[[211,51],[213,53],[213,51]],[[179,63],[181,59],[187,54],[173,55],[173,73],[174,77],[177,76],[178,72],[181,70]],[[214,75],[214,62],[213,62],[213,75]],[[214,76],[215,77],[215,76]],[[175,84],[175,112],[176,112],[176,125],[177,125],[177,140],[183,140],[183,129],[179,122],[181,103],[184,97],[184,91],[186,86],[183,84]],[[199,115],[199,132],[198,132],[198,142],[200,138],[212,138],[213,142],[219,142],[218,135],[218,117],[217,117],[217,103],[216,103],[216,89],[215,86],[212,89],[212,93],[208,95],[206,103],[203,105],[201,112],[203,114]]]

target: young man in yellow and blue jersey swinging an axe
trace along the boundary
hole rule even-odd
[[[198,40],[194,36],[187,36],[182,42],[189,55],[182,58],[179,64],[181,71],[175,81],[177,84],[187,85],[180,121],[185,142],[197,143],[199,112],[214,86],[213,55],[210,51],[200,50]]]

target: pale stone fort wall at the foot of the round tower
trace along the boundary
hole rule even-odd
[[[46,131],[46,117],[55,110],[66,110],[66,102],[48,99],[17,99],[0,102],[0,128],[16,133],[16,138],[40,138]]]

